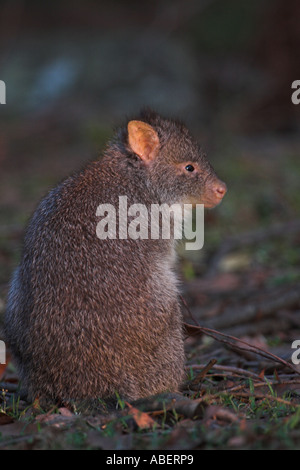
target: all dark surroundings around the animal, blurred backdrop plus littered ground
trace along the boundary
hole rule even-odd
[[[148,105],[185,121],[228,186],[204,248],[178,257],[184,321],[215,330],[185,340],[184,394],[209,405],[203,418],[164,408],[147,432],[123,402],[118,419],[54,407],[42,421],[14,398],[7,351],[1,448],[300,448],[299,380],[282,363],[300,338],[299,25],[296,0],[0,0],[0,339],[28,218],[126,115]]]

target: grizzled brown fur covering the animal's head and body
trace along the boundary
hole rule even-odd
[[[96,209],[125,195],[128,204],[147,207],[216,204],[222,183],[182,124],[153,112],[137,119],[155,133],[143,136],[145,152],[159,141],[150,163],[133,151],[124,126],[103,158],[54,188],[29,223],[5,319],[29,399],[118,392],[132,400],[176,391],[183,379],[174,240],[99,240]],[[183,162],[198,170],[178,171]]]

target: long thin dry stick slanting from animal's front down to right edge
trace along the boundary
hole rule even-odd
[[[193,318],[193,316],[191,314],[191,311],[190,311],[187,303],[183,299],[183,297],[181,297],[181,300],[182,300],[183,304],[185,305],[188,313],[190,314],[192,320],[195,321],[195,319]],[[211,328],[206,328],[206,327],[200,326],[197,321],[196,321],[196,323],[197,323],[197,326],[192,325],[192,328],[194,329],[194,331],[197,329],[197,330],[199,330],[199,332],[204,333],[205,335],[212,337],[216,341],[219,341],[221,343],[225,343],[225,344],[227,344],[227,346],[229,345],[233,348],[237,348],[240,351],[247,351],[247,352],[253,352],[255,354],[259,354],[260,356],[265,357],[266,359],[268,359],[270,361],[274,361],[274,362],[277,362],[279,364],[284,365],[285,367],[288,367],[289,369],[296,372],[296,374],[300,375],[300,371],[298,371],[296,369],[296,367],[294,367],[292,364],[289,364],[288,362],[286,362],[281,357],[278,357],[275,354],[272,354],[272,353],[266,351],[265,349],[259,348],[258,346],[253,346],[252,344],[248,343],[247,341],[236,338],[235,336],[226,335],[225,333],[221,333],[220,331],[216,331],[216,330],[213,330]],[[191,325],[188,325],[188,326],[191,326]],[[226,339],[218,338],[218,336],[222,336],[223,338],[226,338]],[[245,344],[247,346],[247,348],[243,348],[242,346],[240,346],[238,344],[234,344],[234,343],[232,343],[232,341],[234,341],[236,343]]]

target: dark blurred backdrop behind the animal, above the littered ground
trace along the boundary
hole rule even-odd
[[[0,312],[40,198],[144,105],[185,121],[229,189],[182,253],[191,303],[298,282],[299,24],[296,0],[1,1]]]

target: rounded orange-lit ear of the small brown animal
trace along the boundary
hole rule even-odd
[[[145,163],[154,160],[159,149],[157,132],[142,121],[129,121],[128,143],[131,150]]]

